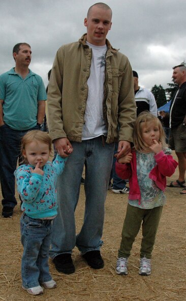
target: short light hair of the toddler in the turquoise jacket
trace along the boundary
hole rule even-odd
[[[28,131],[21,139],[21,154],[25,151],[26,145],[36,141],[38,143],[42,142],[48,144],[49,152],[52,151],[52,140],[47,132],[43,132],[41,130],[31,130]],[[22,156],[21,163],[28,163],[27,159]]]

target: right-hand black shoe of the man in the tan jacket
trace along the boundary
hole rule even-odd
[[[86,252],[82,256],[90,267],[95,269],[104,267],[104,261],[99,250]]]

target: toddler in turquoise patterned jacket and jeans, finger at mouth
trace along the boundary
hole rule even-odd
[[[32,295],[44,288],[56,287],[49,273],[48,258],[52,235],[52,220],[57,214],[55,182],[65,167],[67,158],[59,155],[48,161],[52,142],[46,132],[32,130],[22,138],[24,164],[14,175],[22,200],[21,261],[22,288]]]

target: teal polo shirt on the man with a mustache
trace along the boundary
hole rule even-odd
[[[37,124],[38,101],[47,94],[41,76],[29,69],[23,79],[15,69],[0,75],[0,99],[4,100],[4,122],[15,130],[27,130]]]

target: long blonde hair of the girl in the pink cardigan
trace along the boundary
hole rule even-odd
[[[135,122],[134,125],[134,147],[139,152],[149,151],[149,146],[142,139],[142,128],[146,122],[154,122],[157,123],[160,131],[160,139],[159,142],[162,144],[162,148],[167,147],[165,142],[165,132],[162,126],[161,121],[154,115],[152,115],[148,111],[141,112]]]

